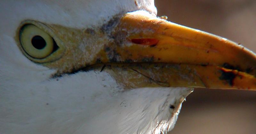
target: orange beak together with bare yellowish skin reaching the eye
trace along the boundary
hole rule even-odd
[[[53,39],[58,39],[57,45],[62,42],[61,53],[56,50],[61,56],[39,63],[57,69],[57,76],[93,69],[109,72],[127,89],[256,89],[254,53],[227,39],[161,18],[128,13],[94,29],[47,27]]]

